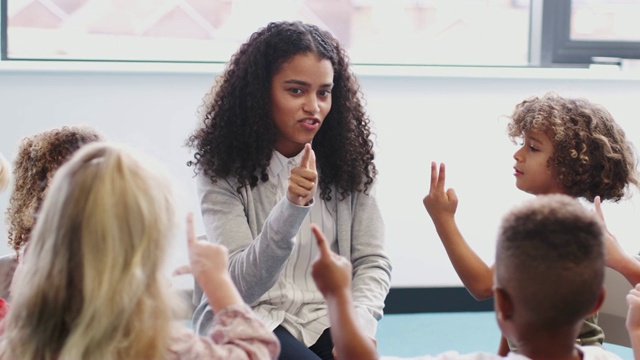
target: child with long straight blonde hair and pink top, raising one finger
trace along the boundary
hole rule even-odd
[[[55,174],[2,324],[3,359],[275,359],[278,342],[242,302],[226,249],[197,242],[191,271],[211,299],[207,337],[173,319],[163,274],[177,224],[168,179],[109,143],[78,150]]]

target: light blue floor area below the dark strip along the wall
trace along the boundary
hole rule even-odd
[[[415,357],[448,350],[461,354],[496,353],[500,329],[491,312],[389,314],[378,324],[380,355]],[[630,348],[605,343],[622,359],[633,359]]]

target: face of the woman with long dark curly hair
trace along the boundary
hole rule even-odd
[[[286,157],[311,142],[331,110],[333,67],[315,54],[298,54],[271,80],[271,108],[278,138],[274,148]]]

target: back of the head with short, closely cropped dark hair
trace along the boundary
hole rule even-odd
[[[602,291],[603,239],[600,219],[577,199],[539,195],[502,221],[496,286],[526,309],[531,326],[575,326],[594,309]]]

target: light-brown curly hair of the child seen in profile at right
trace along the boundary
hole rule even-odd
[[[516,105],[507,129],[514,142],[530,130],[551,139],[548,166],[567,195],[617,202],[630,185],[640,186],[633,144],[601,105],[549,92]]]

